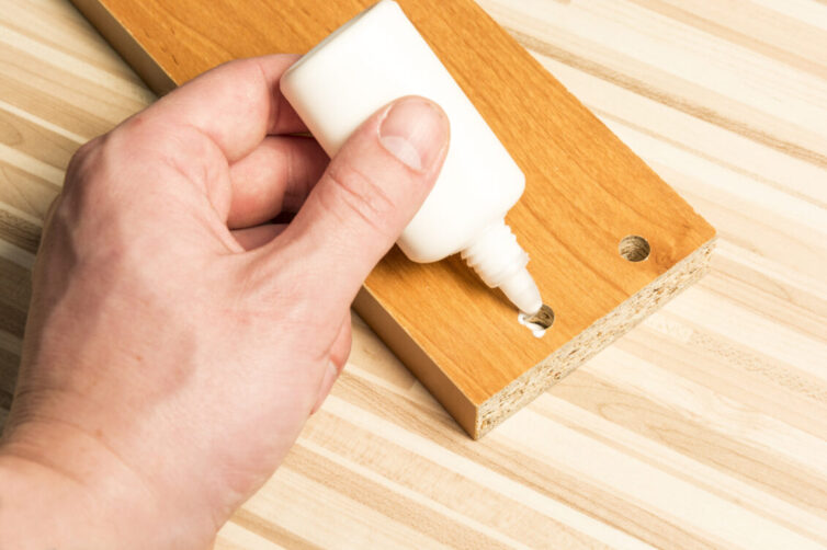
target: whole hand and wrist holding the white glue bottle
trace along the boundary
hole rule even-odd
[[[209,547],[329,392],[449,124],[403,98],[328,164],[279,92],[295,60],[218,67],[75,154],[0,446],[0,547]]]

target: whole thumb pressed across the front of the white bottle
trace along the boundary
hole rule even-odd
[[[279,239],[313,270],[305,278],[313,296],[350,305],[430,193],[448,141],[448,117],[418,96],[390,103],[353,133]]]

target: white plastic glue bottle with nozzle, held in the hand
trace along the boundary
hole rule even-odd
[[[383,0],[342,25],[284,73],[281,89],[331,157],[392,101],[421,95],[438,103],[451,124],[448,156],[399,248],[422,263],[461,252],[521,311],[541,308],[529,255],[505,221],[525,176],[399,4]]]

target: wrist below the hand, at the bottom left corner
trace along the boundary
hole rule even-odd
[[[77,432],[77,433],[76,433]],[[16,426],[0,446],[0,548],[206,548],[100,442],[64,425]]]

